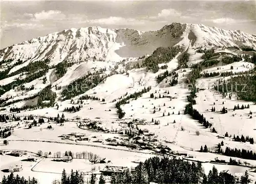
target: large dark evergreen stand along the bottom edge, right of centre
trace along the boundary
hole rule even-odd
[[[134,172],[124,171],[113,173],[111,176],[112,184],[119,183],[245,183],[250,182],[248,173],[239,180],[237,177],[226,173],[218,172],[212,167],[208,176],[204,173],[201,163],[195,164],[186,162],[182,159],[169,159],[164,157],[148,158],[144,163],[140,163]]]

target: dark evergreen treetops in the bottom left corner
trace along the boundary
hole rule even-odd
[[[32,179],[25,179],[23,176],[20,177],[16,175],[16,177],[11,173],[7,177],[4,175],[2,179],[2,184],[38,184],[38,181],[33,177]]]

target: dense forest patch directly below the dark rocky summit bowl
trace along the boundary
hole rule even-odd
[[[142,61],[142,67],[146,67],[147,71],[157,73],[159,70],[158,64],[169,62],[180,51],[182,51],[182,48],[179,45],[167,48],[159,47],[152,53],[152,55]]]

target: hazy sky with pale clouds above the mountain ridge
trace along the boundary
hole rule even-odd
[[[2,1],[1,45],[64,29],[100,26],[158,30],[172,22],[256,34],[255,1]]]

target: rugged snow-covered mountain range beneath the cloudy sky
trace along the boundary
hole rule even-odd
[[[256,36],[242,31],[226,31],[197,24],[173,23],[158,31],[141,32],[131,29],[88,27],[69,29],[11,45],[0,51],[0,60],[41,60],[51,64],[64,60],[120,61],[124,57],[151,54],[158,47],[168,47],[193,33],[193,47],[241,46],[256,48]]]

